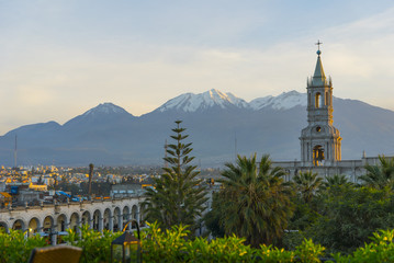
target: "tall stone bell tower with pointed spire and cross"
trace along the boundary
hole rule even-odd
[[[301,161],[304,167],[334,165],[341,160],[339,130],[333,126],[333,84],[323,70],[317,42],[315,73],[307,79],[307,127],[301,132]]]

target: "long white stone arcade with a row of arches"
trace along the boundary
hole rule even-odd
[[[50,235],[53,242],[56,242],[56,235],[68,228],[78,232],[78,227],[82,225],[89,225],[98,231],[119,231],[130,219],[143,222],[143,202],[144,197],[126,197],[9,207],[0,210],[0,227],[5,231],[21,229],[26,235]]]

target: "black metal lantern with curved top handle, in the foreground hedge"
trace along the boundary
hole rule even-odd
[[[138,238],[135,238],[128,230],[127,225],[135,221]],[[111,242],[111,262],[143,262],[140,253],[139,226],[135,219],[128,220],[123,228],[123,235]]]

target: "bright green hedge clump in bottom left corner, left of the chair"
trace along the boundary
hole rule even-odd
[[[10,229],[10,233],[0,228],[0,263],[27,262],[34,248],[46,247],[41,236],[26,237],[26,232]]]

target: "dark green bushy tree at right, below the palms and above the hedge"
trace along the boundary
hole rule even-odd
[[[320,197],[319,214],[306,236],[329,252],[351,252],[376,229],[394,228],[394,195],[390,190],[333,186]]]

